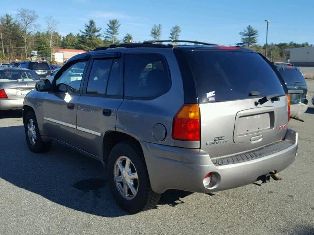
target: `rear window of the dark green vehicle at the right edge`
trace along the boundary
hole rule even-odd
[[[302,73],[298,71],[295,67],[277,67],[277,70],[279,71],[280,75],[283,77],[288,86],[306,85]]]

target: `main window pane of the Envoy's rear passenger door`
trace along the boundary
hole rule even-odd
[[[112,60],[94,60],[87,84],[87,94],[105,94]]]

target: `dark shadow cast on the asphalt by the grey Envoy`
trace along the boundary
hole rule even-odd
[[[50,151],[28,150],[23,126],[0,128],[0,178],[57,204],[85,213],[129,215],[114,201],[102,165],[59,143]],[[167,191],[161,204],[176,206],[190,192]]]

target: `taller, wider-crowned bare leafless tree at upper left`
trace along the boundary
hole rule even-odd
[[[27,59],[27,50],[29,47],[28,37],[36,29],[35,22],[38,15],[33,10],[21,8],[18,10],[17,18],[22,29],[21,37],[24,43],[25,59]]]

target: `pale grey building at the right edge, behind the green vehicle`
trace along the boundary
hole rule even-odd
[[[295,66],[314,67],[314,47],[286,49],[290,52],[290,63]]]

